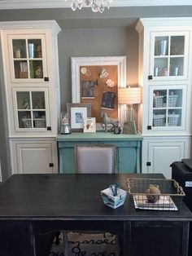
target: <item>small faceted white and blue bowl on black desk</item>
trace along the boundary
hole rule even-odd
[[[117,192],[117,196],[113,196],[111,192],[111,188],[106,188],[101,191],[101,195],[103,198],[104,205],[107,205],[113,209],[116,209],[117,207],[124,205],[127,192],[119,188]]]

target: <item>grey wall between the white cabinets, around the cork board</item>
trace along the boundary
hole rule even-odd
[[[127,57],[127,85],[137,85],[138,35],[134,28],[63,29],[59,33],[61,109],[72,101],[71,57]]]

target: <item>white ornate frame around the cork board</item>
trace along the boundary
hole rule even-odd
[[[126,87],[126,56],[109,57],[72,57],[72,103],[80,103],[80,67],[107,66],[118,67],[118,87]],[[125,120],[125,106],[118,104],[118,120],[120,126]]]

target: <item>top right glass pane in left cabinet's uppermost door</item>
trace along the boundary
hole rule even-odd
[[[42,58],[41,39],[28,39],[28,58]]]

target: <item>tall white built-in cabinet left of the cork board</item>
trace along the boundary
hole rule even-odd
[[[59,64],[54,20],[0,23],[12,174],[58,172]]]

